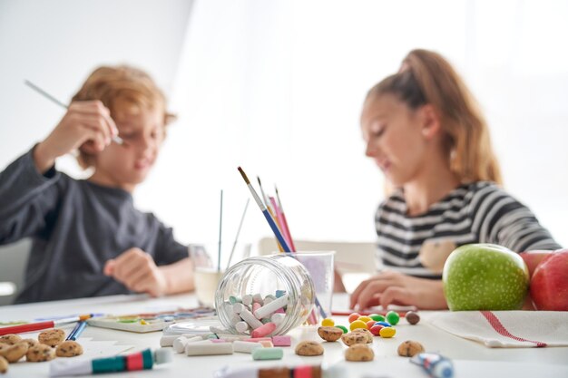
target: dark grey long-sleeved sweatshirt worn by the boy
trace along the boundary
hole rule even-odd
[[[103,267],[132,247],[159,266],[188,257],[171,228],[134,208],[130,193],[54,167],[42,175],[31,150],[0,173],[0,245],[23,237],[33,246],[16,303],[128,294]]]

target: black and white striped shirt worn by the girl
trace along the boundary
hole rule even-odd
[[[375,224],[378,257],[385,267],[411,276],[441,278],[422,265],[419,252],[425,241],[451,241],[456,247],[492,243],[515,252],[558,249],[529,208],[495,183],[464,184],[432,205],[426,213],[408,216],[401,190],[377,209]]]

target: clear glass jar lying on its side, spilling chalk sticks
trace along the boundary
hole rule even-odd
[[[237,331],[231,297],[288,295],[285,316],[276,329],[268,334],[286,334],[302,325],[314,308],[316,290],[308,270],[294,257],[286,254],[250,257],[230,267],[222,276],[215,295],[220,323],[231,334],[250,334]]]

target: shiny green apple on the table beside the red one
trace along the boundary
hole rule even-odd
[[[529,272],[523,258],[506,247],[466,244],[447,257],[442,280],[452,311],[518,310]]]

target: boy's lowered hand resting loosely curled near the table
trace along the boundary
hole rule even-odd
[[[151,296],[168,293],[166,276],[156,267],[153,258],[140,248],[130,248],[121,256],[108,260],[103,273],[138,293]]]

